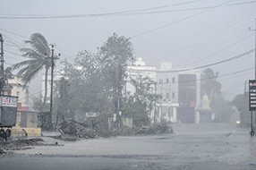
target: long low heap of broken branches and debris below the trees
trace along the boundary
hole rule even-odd
[[[121,129],[113,129],[110,131],[108,128],[99,126],[98,123],[79,123],[70,120],[69,123],[61,123],[58,129],[61,136],[55,137],[58,140],[77,140],[77,139],[94,139],[99,137],[109,138],[111,136],[131,136],[131,135],[149,135],[149,134],[163,134],[172,133],[173,128],[170,124],[161,123],[151,126],[133,127],[129,128],[124,126]]]

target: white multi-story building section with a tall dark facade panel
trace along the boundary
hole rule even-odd
[[[162,97],[159,120],[199,123],[201,108],[201,71],[172,70],[171,63],[161,64],[157,71],[157,89]]]

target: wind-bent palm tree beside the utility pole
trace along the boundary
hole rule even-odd
[[[44,38],[40,33],[34,33],[30,36],[30,40],[25,40],[25,44],[30,45],[30,47],[20,48],[22,56],[29,58],[28,60],[22,61],[18,64],[13,64],[12,68],[21,69],[17,76],[21,78],[26,86],[38,72],[42,69],[46,69],[46,79],[45,79],[45,96],[44,105],[47,101],[47,73],[51,67],[51,60],[48,57],[51,55],[51,50],[48,47],[47,39]]]

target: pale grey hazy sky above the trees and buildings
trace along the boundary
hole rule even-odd
[[[131,38],[134,55],[146,64],[195,68],[253,49],[249,27],[255,29],[255,18],[253,0],[0,0],[5,66],[22,60],[18,48],[35,32],[70,62],[81,50],[94,52],[115,32]],[[254,79],[252,69],[244,71],[252,67],[254,52],[211,66],[228,98]]]

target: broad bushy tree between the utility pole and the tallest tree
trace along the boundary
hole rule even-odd
[[[107,112],[110,87],[102,74],[98,54],[80,52],[74,64],[64,62],[64,77],[70,83],[69,106],[73,113]]]

